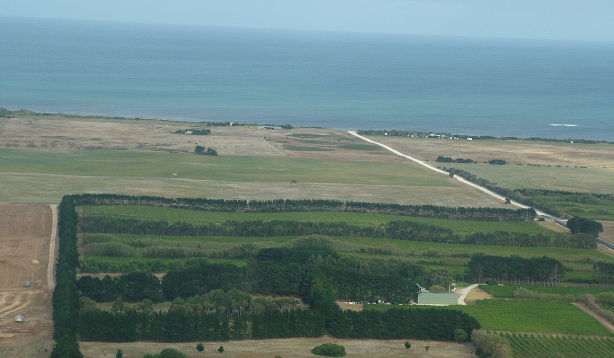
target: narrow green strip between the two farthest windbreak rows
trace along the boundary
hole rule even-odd
[[[466,236],[476,232],[519,232],[550,236],[551,230],[535,222],[484,222],[467,220],[429,219],[422,217],[394,216],[384,214],[363,214],[358,212],[309,211],[309,212],[212,212],[188,209],[161,208],[138,205],[93,205],[83,207],[84,216],[111,216],[139,220],[166,220],[168,222],[225,222],[225,221],[300,221],[300,222],[347,222],[351,225],[372,226],[387,224],[393,220],[419,222],[451,228],[455,233]]]

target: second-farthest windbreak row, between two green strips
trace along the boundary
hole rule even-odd
[[[222,223],[193,224],[190,222],[169,223],[165,220],[150,221],[123,219],[108,216],[86,216],[80,219],[85,233],[195,236],[195,237],[273,237],[325,235],[338,237],[360,237],[422,241],[427,243],[470,244],[489,246],[533,246],[594,248],[594,236],[572,236],[561,234],[475,233],[464,239],[451,228],[421,224],[410,221],[391,221],[381,225],[359,226],[346,222],[299,222],[289,220],[226,221]]]

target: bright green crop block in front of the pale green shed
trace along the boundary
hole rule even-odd
[[[386,310],[391,305],[365,305],[366,309]],[[405,305],[403,309],[431,306]],[[474,306],[444,306],[475,317],[485,330],[506,332],[561,333],[571,335],[614,336],[588,313],[569,302],[549,300],[478,300]]]

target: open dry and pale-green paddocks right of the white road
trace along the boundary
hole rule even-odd
[[[464,169],[507,189],[614,192],[614,145],[566,142],[425,139],[370,136],[432,165]],[[436,163],[438,156],[471,158],[480,164]],[[503,159],[510,165],[488,165]]]

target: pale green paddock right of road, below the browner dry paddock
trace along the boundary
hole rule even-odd
[[[507,189],[550,189],[570,192],[612,193],[612,169],[557,168],[556,166],[438,163],[463,169]]]

